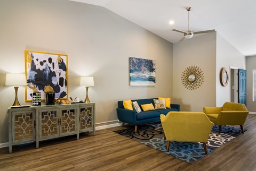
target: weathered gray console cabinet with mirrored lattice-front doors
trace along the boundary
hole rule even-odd
[[[95,135],[95,104],[30,106],[9,108],[9,152],[12,146],[26,142],[92,132]]]

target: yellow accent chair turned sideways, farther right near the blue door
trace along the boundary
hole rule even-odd
[[[244,133],[243,124],[249,114],[244,104],[225,102],[222,107],[203,107],[203,110],[210,121],[219,125],[219,134],[221,125],[240,125]]]

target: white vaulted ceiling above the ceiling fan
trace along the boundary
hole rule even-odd
[[[215,29],[245,56],[256,55],[256,0],[70,0],[99,5],[170,41],[190,30]],[[173,20],[173,25],[169,21]],[[194,35],[195,36],[195,35]]]

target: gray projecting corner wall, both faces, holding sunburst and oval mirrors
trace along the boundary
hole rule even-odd
[[[188,90],[181,83],[181,74],[188,66],[203,70],[204,83],[197,90]],[[231,100],[230,83],[220,84],[220,70],[226,67],[245,69],[245,56],[219,33],[207,33],[173,45],[173,99],[183,111],[202,111],[203,106],[222,106]]]

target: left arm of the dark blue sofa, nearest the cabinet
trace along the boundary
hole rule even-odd
[[[137,121],[137,115],[134,110],[116,108],[117,117],[119,121],[133,124]]]

